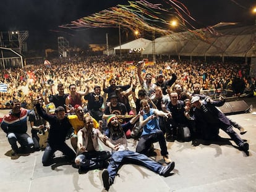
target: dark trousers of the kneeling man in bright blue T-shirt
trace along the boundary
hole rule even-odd
[[[142,135],[137,144],[136,152],[147,154],[153,143],[159,142],[161,148],[161,155],[166,156],[168,154],[166,141],[164,138],[163,131],[157,130],[156,133],[150,135]]]

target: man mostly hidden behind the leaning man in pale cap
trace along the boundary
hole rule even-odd
[[[202,100],[206,99],[209,102],[213,101],[212,99],[210,99],[209,96],[207,96],[203,93],[200,93],[200,84],[199,83],[195,83],[193,85],[193,90],[194,90],[194,92],[192,93],[192,96],[198,96],[200,99],[202,99]],[[223,104],[224,104],[224,102],[223,102]],[[235,122],[234,120],[229,119],[229,118],[228,118],[228,120],[233,127],[237,128],[240,131],[241,135],[244,135],[245,133],[247,133],[247,130],[244,127],[242,127],[241,125],[239,125],[237,122]]]

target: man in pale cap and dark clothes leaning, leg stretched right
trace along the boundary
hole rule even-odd
[[[249,150],[249,144],[243,141],[233,130],[229,119],[217,107],[222,106],[224,99],[218,101],[210,99],[201,100],[199,96],[192,97],[191,101],[194,108],[193,119],[195,127],[202,131],[202,138],[213,140],[218,138],[219,129],[227,133],[231,139],[239,146],[242,151]]]

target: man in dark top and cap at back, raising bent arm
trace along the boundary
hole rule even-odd
[[[177,80],[177,75],[171,70],[172,78],[170,80],[164,80],[164,75],[162,73],[156,75],[156,82],[153,84],[152,89],[154,90],[156,86],[160,86],[163,90],[163,94],[167,94],[168,86],[172,86]]]

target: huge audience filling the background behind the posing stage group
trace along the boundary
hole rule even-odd
[[[128,59],[132,60],[132,58]],[[8,85],[8,91],[0,93],[0,108],[10,108],[10,101],[14,97],[20,98],[24,106],[30,105],[37,95],[56,94],[58,83],[62,83],[64,92],[68,93],[70,84],[75,84],[77,91],[84,91],[87,85],[90,90],[93,90],[95,85],[103,86],[104,78],[105,80],[114,78],[117,85],[127,85],[126,82],[131,77],[137,78],[136,63],[127,64],[125,59],[121,62],[111,57],[94,59],[90,57],[84,61],[61,62],[63,61],[56,60],[51,67],[41,64],[27,65],[24,69],[1,70],[0,81]],[[153,66],[142,67],[142,76],[151,73],[152,83],[159,73],[169,79],[170,68],[176,72],[176,83],[180,83],[183,90],[192,91],[192,85],[198,82],[202,90],[231,90],[232,92],[225,92],[229,96],[254,94],[255,77],[249,76],[248,64],[202,61],[159,62]]]

